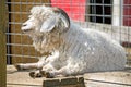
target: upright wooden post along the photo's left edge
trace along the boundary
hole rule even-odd
[[[0,0],[0,87],[5,87],[7,61],[5,61],[5,27],[8,17],[5,16],[5,0]]]

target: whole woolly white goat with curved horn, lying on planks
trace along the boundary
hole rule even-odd
[[[60,8],[33,7],[22,30],[32,38],[35,49],[44,54],[36,63],[15,65],[17,70],[37,69],[29,73],[31,77],[124,69],[126,51],[119,42],[99,30],[82,28]]]

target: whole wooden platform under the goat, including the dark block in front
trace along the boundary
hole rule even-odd
[[[7,87],[131,87],[131,67],[123,71],[86,73],[83,76],[31,78],[29,71],[7,65]]]

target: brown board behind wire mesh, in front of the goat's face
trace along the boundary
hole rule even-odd
[[[33,62],[38,57],[32,46],[32,40],[21,32],[21,25],[28,17],[29,10],[34,5],[49,3],[49,0],[8,0],[9,5],[9,28],[7,30],[7,58],[8,63]]]

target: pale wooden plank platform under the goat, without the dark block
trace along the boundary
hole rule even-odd
[[[28,76],[28,72],[19,72],[13,65],[7,65],[7,87],[43,87],[43,82],[46,78],[33,79]],[[84,75],[84,83],[86,87],[131,87],[131,69],[115,72],[87,73]]]

